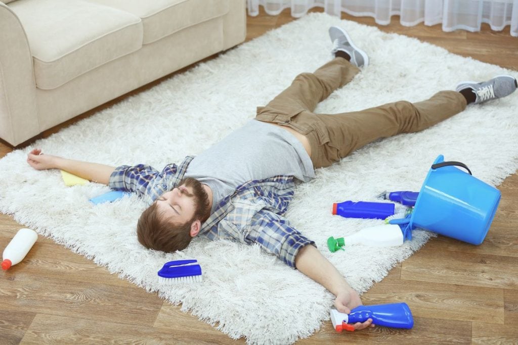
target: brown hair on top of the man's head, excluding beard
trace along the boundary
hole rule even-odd
[[[192,239],[192,221],[178,224],[162,218],[156,203],[142,212],[137,223],[138,242],[146,248],[165,252],[187,247]]]

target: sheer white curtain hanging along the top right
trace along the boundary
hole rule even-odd
[[[389,24],[391,16],[397,14],[402,25],[442,24],[444,31],[479,31],[481,23],[501,31],[510,25],[511,36],[518,37],[518,0],[248,0],[248,14],[257,16],[259,6],[273,16],[291,8],[293,17],[304,16],[310,8],[323,7],[334,16],[340,16],[342,11],[357,17],[370,16],[381,25]]]

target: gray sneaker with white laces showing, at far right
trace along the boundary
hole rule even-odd
[[[509,96],[517,87],[518,83],[516,83],[514,77],[503,75],[481,83],[474,81],[458,83],[455,91],[460,92],[470,88],[477,97],[474,103],[478,104],[491,99]]]

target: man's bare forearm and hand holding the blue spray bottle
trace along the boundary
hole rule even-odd
[[[343,313],[350,313],[351,309],[362,305],[361,299],[335,266],[322,253],[311,245],[300,249],[295,257],[297,269],[320,283],[324,288],[336,296],[335,307]],[[355,329],[363,329],[372,324],[372,319],[364,323],[356,323]]]

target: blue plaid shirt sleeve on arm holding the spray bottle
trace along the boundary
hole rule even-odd
[[[292,228],[286,218],[266,209],[255,214],[244,239],[248,244],[258,243],[292,268],[296,268],[295,258],[300,249],[315,246],[314,241]]]

